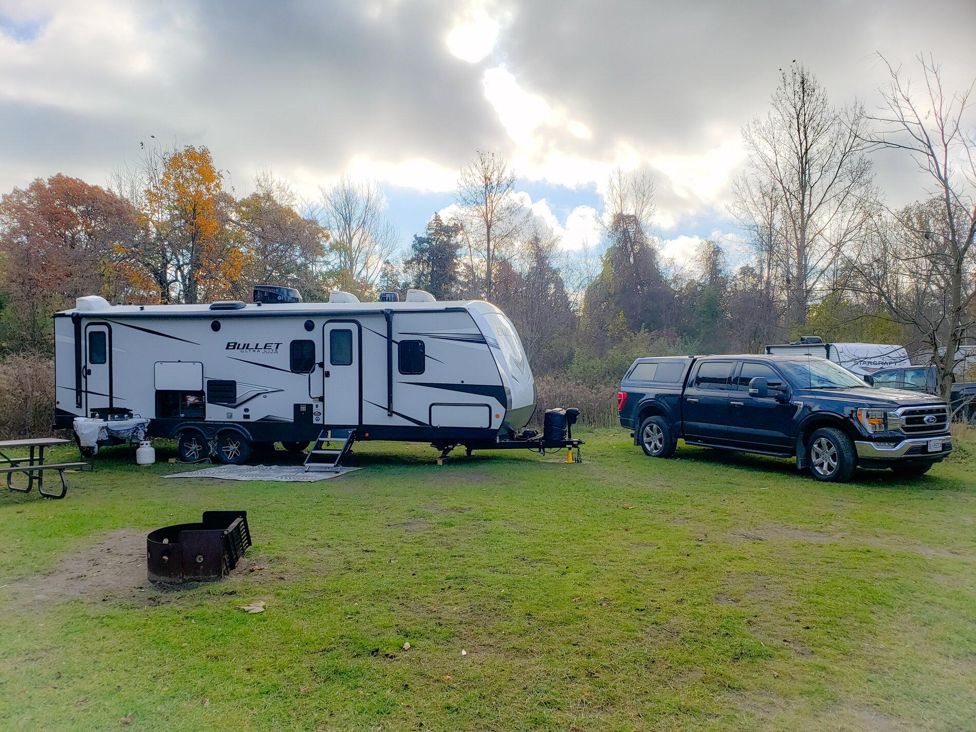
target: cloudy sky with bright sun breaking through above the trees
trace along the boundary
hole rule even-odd
[[[741,130],[780,68],[872,111],[877,54],[967,88],[974,28],[974,0],[0,0],[0,192],[104,184],[154,135],[207,145],[238,195],[265,169],[309,199],[375,180],[406,245],[491,150],[568,251],[598,246],[610,171],[648,169],[664,256],[712,237],[735,264]],[[904,153],[874,166],[890,204],[924,195]]]

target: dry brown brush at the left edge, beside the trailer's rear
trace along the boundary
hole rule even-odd
[[[54,417],[54,361],[37,353],[0,361],[0,438],[47,435]]]

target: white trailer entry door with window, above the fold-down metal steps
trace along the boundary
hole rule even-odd
[[[322,326],[322,422],[324,427],[362,423],[362,349],[354,320],[329,320]]]

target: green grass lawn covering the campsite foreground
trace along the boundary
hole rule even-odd
[[[580,432],[582,465],[360,443],[244,483],[115,448],[63,501],[0,493],[0,729],[976,729],[972,432],[847,485]],[[209,508],[248,511],[245,571],[145,582],[145,533]]]

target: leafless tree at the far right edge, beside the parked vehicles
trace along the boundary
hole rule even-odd
[[[872,117],[879,129],[866,140],[910,154],[931,185],[926,200],[875,216],[874,240],[852,260],[855,286],[918,332],[949,400],[959,346],[976,335],[976,138],[965,127],[973,86],[946,92],[941,67],[919,57],[922,83],[915,91],[900,67],[881,60],[890,78]]]

